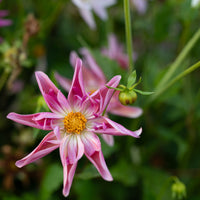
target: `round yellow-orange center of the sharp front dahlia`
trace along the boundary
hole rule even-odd
[[[80,112],[70,112],[64,118],[64,127],[68,133],[80,134],[85,129],[87,119]]]

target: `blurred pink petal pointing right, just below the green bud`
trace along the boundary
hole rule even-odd
[[[142,114],[142,109],[134,106],[124,106],[119,101],[111,100],[107,111],[114,115],[119,115],[129,118],[137,118]]]

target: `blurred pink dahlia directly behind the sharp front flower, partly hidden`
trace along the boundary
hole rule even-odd
[[[85,90],[88,95],[93,95],[93,93],[99,88],[105,87],[106,77],[87,49],[82,48],[81,54],[84,57],[83,77],[85,77],[85,79],[83,81],[85,85]],[[72,66],[75,66],[75,61],[77,58],[78,55],[75,52],[72,52],[70,55]],[[70,79],[64,78],[57,73],[56,80],[66,91],[70,91],[72,85],[72,81]],[[118,100],[118,95],[119,92],[115,92],[115,94],[113,95],[107,107],[108,113],[129,118],[137,118],[142,114],[141,108],[122,105]],[[107,142],[107,144],[111,146],[114,144],[114,139],[112,135],[103,134],[102,137]]]

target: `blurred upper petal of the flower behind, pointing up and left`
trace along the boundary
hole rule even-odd
[[[84,56],[85,58],[84,62],[87,64],[88,68],[94,74],[94,77],[96,77],[96,79],[98,78],[101,84],[105,84],[106,77],[104,76],[104,73],[101,70],[101,68],[95,62],[89,50],[86,48],[81,48],[80,52]]]

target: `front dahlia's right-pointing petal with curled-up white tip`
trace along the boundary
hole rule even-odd
[[[98,125],[98,127],[96,127],[95,129],[96,133],[118,135],[118,136],[129,135],[136,138],[138,138],[140,134],[142,133],[142,128],[136,131],[130,131],[126,129],[124,126],[122,126],[121,124],[118,124],[107,117],[102,117],[101,119],[103,119],[104,122],[102,122],[102,126]]]

